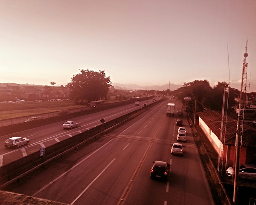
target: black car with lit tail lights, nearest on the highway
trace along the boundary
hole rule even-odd
[[[170,164],[165,161],[153,161],[154,165],[150,170],[150,178],[165,179],[170,172]]]

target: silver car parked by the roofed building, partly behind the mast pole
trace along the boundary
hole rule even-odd
[[[232,176],[233,173],[234,173],[233,167],[227,168],[226,170],[227,176]],[[241,164],[239,167],[239,178],[256,180],[256,165]]]

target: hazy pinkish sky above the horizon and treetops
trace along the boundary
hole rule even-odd
[[[247,40],[252,92],[256,0],[0,0],[0,82],[66,85],[89,69],[121,84],[234,87]]]

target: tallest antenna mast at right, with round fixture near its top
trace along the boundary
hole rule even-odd
[[[247,41],[248,42],[248,41]],[[246,91],[246,80],[247,80],[247,66],[248,63],[246,62],[246,57],[248,56],[247,53],[247,42],[246,42],[246,49],[244,53],[244,62],[243,62],[243,73],[242,73],[242,82],[241,82],[241,90],[240,90],[240,97],[239,97],[239,107],[238,107],[238,118],[237,118],[237,126],[236,126],[236,161],[235,161],[235,167],[234,167],[234,195],[233,195],[233,203],[234,205],[238,204],[238,187],[239,187],[239,160],[240,160],[240,146],[241,143],[241,135],[243,132],[241,132],[241,104],[242,104],[242,95],[243,95],[243,87],[245,86]],[[243,102],[244,104],[245,102]],[[243,108],[245,108],[243,106]],[[243,109],[244,113],[244,109]],[[242,126],[243,130],[243,126]]]

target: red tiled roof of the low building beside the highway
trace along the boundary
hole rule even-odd
[[[222,115],[219,112],[207,110],[197,112],[197,115],[207,124],[211,131],[220,139]],[[227,123],[226,123],[227,122]],[[224,130],[226,123],[226,133]],[[227,116],[223,122],[222,142],[226,145],[235,145],[237,119]],[[242,146],[256,148],[256,130],[246,124],[243,125]]]

